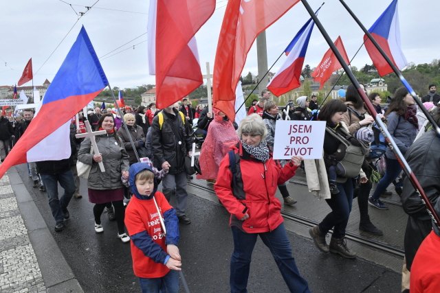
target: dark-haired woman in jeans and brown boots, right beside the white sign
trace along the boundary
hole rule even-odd
[[[344,129],[341,124],[344,113],[347,112],[347,106],[338,99],[332,99],[322,106],[318,119],[326,121],[326,130],[324,137],[324,154],[325,158],[339,154],[342,148],[342,141],[347,145],[347,141],[355,140],[354,137]],[[350,143],[348,143],[350,145]],[[347,148],[348,150],[348,148]],[[363,159],[360,159],[358,174],[362,165]],[[327,167],[327,163],[326,163]],[[329,173],[329,168],[327,168]],[[352,174],[355,172],[351,172]],[[356,176],[356,175],[355,175]],[[338,194],[331,194],[331,198],[326,202],[331,208],[331,212],[325,216],[324,220],[309,230],[309,233],[314,240],[316,247],[324,253],[338,253],[342,257],[355,258],[356,254],[352,253],[347,248],[345,241],[345,228],[349,222],[351,212],[351,203],[353,201],[353,178],[351,176],[338,175],[336,186],[338,187]],[[333,228],[333,235],[331,236],[330,245],[327,245],[325,236],[329,230]]]

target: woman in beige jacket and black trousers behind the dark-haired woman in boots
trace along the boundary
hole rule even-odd
[[[365,87],[363,84],[360,84],[361,89],[365,91]],[[358,90],[355,88],[353,84],[350,84],[347,87],[347,93],[345,95],[345,105],[347,106],[347,112],[344,113],[342,117],[342,121],[344,121],[344,124],[346,124],[349,128],[349,133],[351,135],[354,135],[355,132],[357,132],[362,127],[369,127],[374,122],[374,119],[372,116],[368,115],[366,111],[366,107],[364,106],[364,101],[362,100],[362,97],[360,97]],[[381,117],[383,115],[381,114]],[[371,183],[371,180],[369,179],[371,177],[371,173],[373,172],[373,169],[371,165],[369,165],[369,162],[366,161],[364,163],[364,167],[362,168],[362,171],[364,172],[365,176],[362,176],[363,179],[362,182],[359,184],[359,192],[358,192],[358,207],[359,207],[359,214],[360,214],[360,221],[359,221],[359,230],[370,233],[373,235],[384,235],[384,233],[377,228],[370,219],[369,215],[369,196],[371,189],[373,188],[373,183]],[[384,191],[387,194],[391,194],[389,191]]]

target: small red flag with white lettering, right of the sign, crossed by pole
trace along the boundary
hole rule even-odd
[[[342,44],[342,39],[340,36],[335,40],[335,46],[338,48],[339,53],[342,55],[342,58],[344,58],[344,61],[349,64],[349,57],[347,56],[347,52],[345,51],[344,44]],[[314,78],[314,81],[320,83],[319,89],[322,89],[322,86],[324,86],[325,82],[329,80],[331,73],[337,71],[342,66],[340,62],[338,61],[338,58],[336,58],[336,55],[331,51],[331,49],[328,49],[327,52],[325,52],[324,57],[322,57],[322,60],[320,64],[316,67],[314,72],[311,73],[311,77]]]

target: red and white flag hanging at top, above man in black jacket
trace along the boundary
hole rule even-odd
[[[203,84],[194,35],[214,8],[215,0],[150,1],[148,63],[150,74],[156,75],[157,108],[170,106]]]

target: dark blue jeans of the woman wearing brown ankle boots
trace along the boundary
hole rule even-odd
[[[349,222],[351,202],[353,202],[353,180],[348,178],[345,183],[337,183],[339,194],[332,194],[325,200],[331,212],[318,225],[322,233],[327,234],[333,228],[333,237],[343,238]]]

